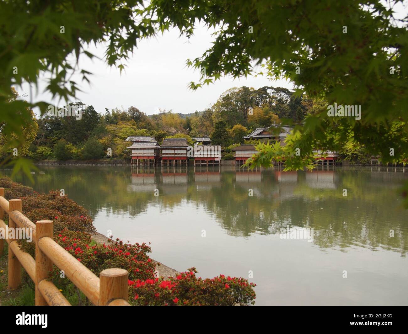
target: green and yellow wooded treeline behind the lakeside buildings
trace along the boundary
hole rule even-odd
[[[186,117],[172,110],[146,115],[135,106],[127,110],[105,108],[102,113],[82,102],[70,105],[81,111],[80,119],[50,113],[36,118],[33,114],[34,122],[28,122],[24,128],[26,142],[19,154],[33,160],[88,160],[109,156],[110,148],[111,157],[129,159],[126,148],[131,143],[125,139],[132,135],[153,135],[159,143],[165,137],[186,137],[190,144],[191,137],[209,135],[213,144],[227,148],[226,158],[231,158],[228,148],[243,144],[242,137],[256,128],[279,124],[283,119],[298,124],[306,115],[325,108],[324,102],[270,86],[230,88],[211,108]],[[0,144],[5,140],[4,136],[0,138]],[[13,152],[2,154],[4,159]]]

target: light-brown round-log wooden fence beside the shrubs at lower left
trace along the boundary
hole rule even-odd
[[[53,240],[53,221],[41,220],[35,224],[22,213],[22,200],[4,198],[0,188],[0,228],[7,230],[4,213],[9,215],[8,228],[31,228],[35,242],[35,259],[20,249],[17,239],[6,238],[9,244],[8,287],[21,284],[21,267],[35,283],[35,305],[71,305],[60,290],[48,280],[49,270],[55,264],[71,282],[95,305],[130,305],[128,303],[128,272],[112,268],[96,276],[69,252]],[[16,235],[14,235],[16,237]],[[0,256],[4,239],[0,239]]]

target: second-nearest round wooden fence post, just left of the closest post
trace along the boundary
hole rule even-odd
[[[52,270],[52,261],[47,257],[47,255],[40,250],[38,247],[38,241],[43,237],[50,237],[53,239],[54,236],[54,223],[52,220],[39,220],[35,223],[35,235],[37,237],[37,242],[35,243],[35,306],[46,306],[47,301],[45,301],[40,290],[38,289],[38,284],[43,279],[47,279],[49,271]]]

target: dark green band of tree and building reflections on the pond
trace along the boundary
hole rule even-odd
[[[401,168],[324,166],[312,172],[283,172],[232,166],[40,166],[40,170],[46,173],[35,175],[35,190],[64,188],[92,215],[105,209],[137,216],[152,203],[165,211],[188,201],[213,214],[232,236],[279,234],[289,224],[313,227],[314,244],[322,249],[381,247],[402,256],[407,250],[407,212],[400,206],[398,191],[408,173]],[[31,185],[24,175],[15,179]]]

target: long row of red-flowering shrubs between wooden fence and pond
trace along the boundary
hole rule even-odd
[[[198,277],[195,268],[185,272],[171,272],[173,276],[158,276],[157,263],[151,259],[150,244],[125,243],[107,239],[97,243],[96,229],[88,212],[59,191],[48,194],[0,177],[6,199],[22,199],[22,211],[27,218],[54,221],[54,240],[81,261],[95,275],[108,268],[123,268],[129,272],[129,303],[131,305],[253,305],[255,284],[239,277],[219,275],[213,279]],[[4,217],[6,220],[8,217]],[[94,239],[92,238],[94,236]],[[100,234],[99,234],[100,236]],[[35,257],[35,244],[20,240],[20,247]],[[166,267],[168,268],[168,267]],[[171,269],[171,268],[169,268]],[[160,271],[159,271],[160,272]],[[168,273],[169,271],[162,271]],[[24,275],[27,275],[24,272]],[[53,267],[49,279],[61,289],[72,305],[91,305],[91,302]],[[32,294],[34,284],[25,280]],[[31,290],[30,290],[31,289]],[[27,299],[27,298],[26,298]],[[33,301],[32,301],[33,302]]]

